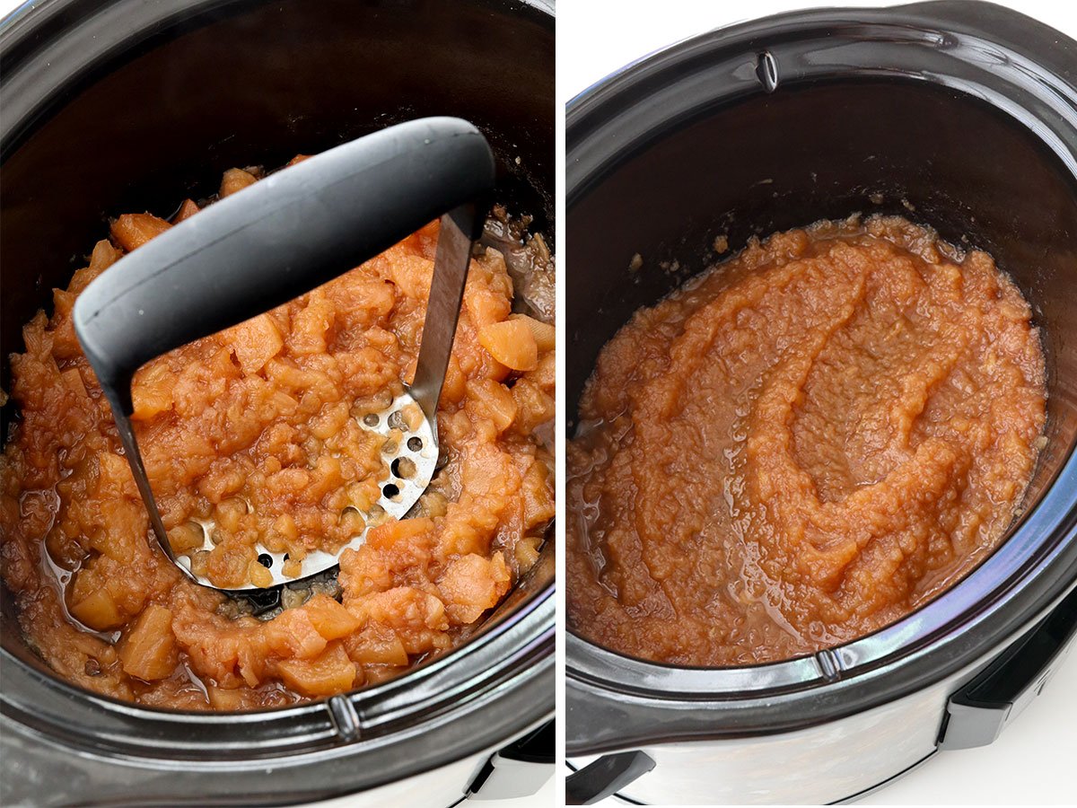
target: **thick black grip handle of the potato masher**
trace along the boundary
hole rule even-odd
[[[493,183],[490,148],[465,121],[429,117],[367,135],[270,175],[124,256],[79,296],[75,333],[110,400],[129,415],[131,377],[151,359],[308,292],[446,211],[463,206],[453,219],[465,224],[457,235],[470,248]],[[443,316],[428,315],[428,325]]]

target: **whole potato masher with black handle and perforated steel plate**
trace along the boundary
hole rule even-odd
[[[460,317],[473,242],[493,190],[482,135],[459,119],[431,117],[382,129],[272,173],[204,209],[94,280],[74,306],[74,329],[112,407],[124,454],[162,549],[198,583],[188,555],[173,552],[131,427],[131,380],[150,360],[235,325],[332,280],[442,217],[422,342],[410,386],[360,424],[384,438],[390,469],[364,523],[403,517],[434,476],[437,401]],[[448,212],[446,212],[448,211]],[[202,525],[212,549],[212,523]],[[308,553],[284,574],[283,553],[255,547],[270,587],[336,566]],[[219,588],[219,587],[214,587]],[[261,591],[248,583],[233,594]]]

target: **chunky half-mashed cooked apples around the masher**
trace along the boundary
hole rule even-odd
[[[260,173],[227,171],[220,194]],[[188,199],[171,221],[116,219],[11,358],[19,420],[0,458],[0,560],[27,640],[92,691],[218,710],[349,691],[451,649],[534,563],[554,516],[540,437],[554,417],[553,324],[514,314],[503,254],[479,250],[431,486],[407,518],[345,551],[338,577],[289,586],[255,616],[158,547],[71,321],[90,280],[198,210]],[[384,438],[360,420],[414,373],[437,229],[137,374],[134,422],[168,539],[192,551],[211,524],[213,549],[192,561],[216,586],[264,583],[257,542],[299,559],[367,527],[359,513],[388,471]],[[529,245],[548,260],[541,238]]]

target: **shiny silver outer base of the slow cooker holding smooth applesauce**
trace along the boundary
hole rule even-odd
[[[627,753],[646,755],[651,768],[616,790],[612,782],[602,788],[644,805],[855,802],[939,751],[992,742],[1075,644],[1077,591],[990,664],[977,660],[895,701],[802,729],[632,747]],[[607,756],[571,756],[568,763],[579,772]]]

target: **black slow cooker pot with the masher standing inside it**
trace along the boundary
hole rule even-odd
[[[0,28],[2,353],[108,217],[215,191],[392,123],[454,115],[495,201],[554,228],[554,6],[541,0],[47,0]],[[6,360],[0,386],[10,389]],[[3,433],[17,418],[9,404]],[[451,654],[299,707],[200,714],[54,677],[3,594],[3,805],[449,806],[553,771],[553,541]]]

